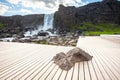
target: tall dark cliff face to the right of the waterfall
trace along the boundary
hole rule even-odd
[[[54,18],[54,27],[59,31],[69,31],[83,22],[120,24],[120,1],[103,0],[79,8],[60,5]]]

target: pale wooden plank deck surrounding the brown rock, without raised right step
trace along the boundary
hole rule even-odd
[[[0,80],[120,80],[120,44],[80,37],[77,47],[93,59],[63,71],[51,59],[73,47],[0,42]]]

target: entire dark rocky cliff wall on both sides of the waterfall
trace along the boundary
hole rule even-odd
[[[0,37],[23,34],[26,30],[43,24],[44,15],[0,16]],[[59,6],[54,15],[54,29],[69,32],[84,22],[120,24],[120,1],[103,0],[82,7]]]

